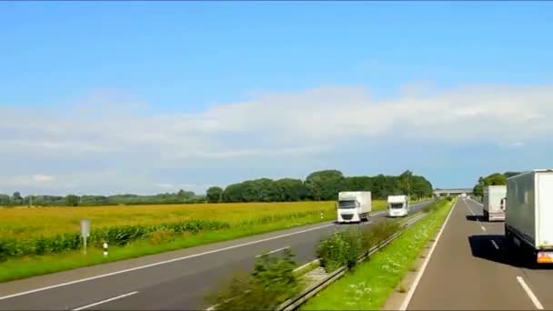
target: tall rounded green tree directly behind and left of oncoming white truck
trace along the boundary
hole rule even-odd
[[[336,200],[344,175],[337,170],[313,172],[306,178],[307,196],[315,201]]]

